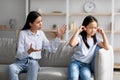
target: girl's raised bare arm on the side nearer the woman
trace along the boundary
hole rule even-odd
[[[70,39],[69,45],[74,47],[78,44],[79,40],[78,40],[78,35],[79,33],[81,33],[83,30],[86,30],[84,26],[81,26],[79,29],[77,29],[77,31],[75,32],[75,34],[72,36],[72,38]]]

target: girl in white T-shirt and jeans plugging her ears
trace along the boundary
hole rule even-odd
[[[103,41],[96,38],[96,33],[100,33]],[[105,32],[98,27],[95,17],[87,16],[82,26],[70,39],[69,45],[75,47],[72,60],[69,65],[69,80],[91,80],[91,63],[97,45],[109,49],[109,44]]]

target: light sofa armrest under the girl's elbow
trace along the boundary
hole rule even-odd
[[[113,80],[113,48],[100,49],[95,58],[95,80]]]

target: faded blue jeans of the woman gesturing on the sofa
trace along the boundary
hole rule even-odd
[[[20,73],[27,73],[26,80],[37,80],[39,64],[38,60],[26,58],[16,59],[15,63],[8,67],[9,80],[19,80]]]

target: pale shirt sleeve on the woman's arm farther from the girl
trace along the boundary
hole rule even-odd
[[[25,49],[24,49],[24,45],[25,45],[24,44],[24,35],[25,35],[25,33],[23,31],[20,31],[19,38],[18,38],[17,55],[16,55],[16,57],[19,57],[19,58],[28,56],[28,54],[25,52]]]

